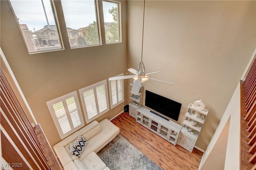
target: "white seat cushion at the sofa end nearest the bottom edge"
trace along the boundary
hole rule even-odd
[[[106,164],[95,152],[88,154],[81,160],[81,162],[86,166],[86,169],[88,170],[103,170],[106,168]]]

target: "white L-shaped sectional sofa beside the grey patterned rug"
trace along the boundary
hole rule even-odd
[[[53,148],[65,170],[109,170],[96,153],[112,141],[119,132],[120,129],[108,119],[100,123],[93,121],[54,145]],[[73,143],[78,136],[83,136],[88,141],[80,157],[70,154],[69,147],[69,144]]]

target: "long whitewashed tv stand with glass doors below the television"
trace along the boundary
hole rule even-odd
[[[137,123],[140,123],[150,131],[166,139],[174,146],[176,145],[182,125],[179,125],[173,121],[162,119],[162,117],[155,115],[149,109],[142,106],[136,109],[136,111]]]

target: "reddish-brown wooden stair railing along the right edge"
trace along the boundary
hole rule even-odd
[[[256,59],[240,82],[240,170],[256,169]]]

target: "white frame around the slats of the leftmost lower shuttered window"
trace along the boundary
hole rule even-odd
[[[79,115],[79,118],[80,118],[80,121],[81,121],[81,125],[79,125],[79,126],[77,126],[77,127],[74,128],[74,127],[73,127],[73,124],[72,124],[72,120],[71,120],[70,115],[69,115],[69,114],[66,114],[67,117],[68,117],[68,121],[69,121],[69,123],[70,123],[71,130],[70,130],[68,133],[63,134],[62,129],[61,129],[61,127],[60,127],[60,123],[59,123],[59,121],[58,121],[58,119],[57,119],[57,117],[56,117],[56,113],[55,113],[55,111],[54,111],[53,105],[56,104],[56,103],[58,103],[58,102],[63,102],[63,101],[65,101],[66,99],[71,98],[71,97],[74,97],[74,99],[75,99],[76,108],[77,108],[78,115]],[[61,139],[64,139],[65,137],[71,135],[72,133],[74,133],[75,131],[77,131],[78,129],[80,129],[81,127],[84,126],[84,119],[83,119],[83,117],[82,117],[82,111],[81,111],[81,108],[80,108],[80,104],[79,104],[79,100],[78,100],[78,95],[77,95],[76,91],[75,91],[75,92],[71,92],[71,93],[69,93],[69,94],[66,94],[66,95],[64,95],[64,96],[61,96],[61,97],[59,97],[59,98],[50,100],[50,101],[46,102],[46,104],[47,104],[47,106],[48,106],[48,109],[49,109],[49,111],[50,111],[50,113],[51,113],[52,119],[53,119],[53,121],[54,121],[54,124],[55,124],[55,126],[56,126],[56,128],[57,128],[57,131],[58,131],[58,133],[59,133]],[[64,106],[64,108],[65,108],[65,106]],[[66,110],[66,109],[67,109],[67,108],[65,108],[65,110]]]

